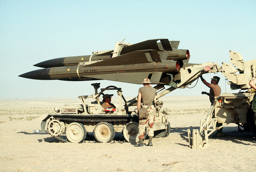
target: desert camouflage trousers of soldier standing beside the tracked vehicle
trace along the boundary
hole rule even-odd
[[[147,108],[148,106],[142,105],[142,107]],[[148,114],[149,114],[148,118],[139,120],[139,138],[141,139],[144,139],[145,129],[147,124],[149,126],[148,136],[152,136],[152,137],[154,136],[153,125],[154,125],[155,116],[156,116],[156,108],[154,107],[154,105],[151,105],[148,108]]]

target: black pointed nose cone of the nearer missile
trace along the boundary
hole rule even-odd
[[[50,68],[34,70],[19,75],[22,78],[34,79],[34,80],[51,80],[49,75]]]

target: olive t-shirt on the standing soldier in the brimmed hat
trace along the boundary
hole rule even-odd
[[[144,86],[139,88],[139,94],[140,93],[141,93],[142,103],[150,104],[154,101],[154,98],[156,96],[156,89],[152,87]]]

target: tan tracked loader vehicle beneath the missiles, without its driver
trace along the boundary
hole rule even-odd
[[[86,133],[88,132],[93,132],[96,140],[101,143],[110,142],[116,133],[123,133],[127,142],[138,142],[139,119],[135,110],[129,111],[131,104],[128,104],[122,95],[121,88],[108,86],[102,88],[98,93],[100,83],[92,84],[92,86],[95,89],[94,95],[78,97],[81,99],[82,104],[65,105],[63,108],[55,108],[56,113],[49,114],[42,120],[42,131],[47,131],[52,137],[62,142],[82,142],[85,140]],[[116,90],[119,98],[118,108],[102,108],[100,96],[104,95],[105,91],[113,90]],[[93,100],[93,102],[87,103],[89,99]],[[122,101],[124,106],[122,106]],[[160,112],[162,104],[162,101],[156,102],[158,115],[155,117],[154,123],[155,137],[166,137],[170,133],[167,110]],[[146,131],[148,127],[146,127]]]

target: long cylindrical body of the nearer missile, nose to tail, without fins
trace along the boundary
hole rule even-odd
[[[101,74],[132,73],[132,72],[163,72],[172,73],[179,70],[178,61],[167,61],[158,64],[144,63],[120,66],[63,66],[55,68],[38,69],[19,75],[23,78],[36,80],[73,80],[87,75],[94,76]],[[79,75],[79,76],[78,76]],[[87,79],[86,79],[87,80]]]

